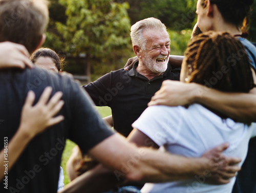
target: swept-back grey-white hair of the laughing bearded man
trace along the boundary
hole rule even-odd
[[[145,49],[146,39],[143,36],[143,32],[148,29],[166,30],[166,26],[154,17],[140,20],[131,27],[133,46],[138,45],[140,48]]]

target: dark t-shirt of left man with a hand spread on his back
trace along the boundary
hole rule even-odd
[[[65,104],[59,114],[65,116],[65,120],[30,141],[13,168],[8,170],[9,189],[4,188],[3,180],[1,192],[56,193],[66,139],[74,141],[83,152],[87,152],[113,134],[97,114],[88,94],[68,76],[38,68],[1,70],[1,149],[4,147],[4,138],[7,137],[10,142],[19,126],[20,112],[28,90],[35,92],[37,102],[48,85],[53,88],[52,95],[57,91],[63,92]]]

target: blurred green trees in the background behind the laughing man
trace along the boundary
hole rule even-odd
[[[173,55],[183,55],[196,23],[197,0],[50,0],[44,47],[65,57],[64,70],[86,83],[123,68],[133,57],[131,25],[155,17],[164,23]],[[256,2],[249,28],[256,41]]]

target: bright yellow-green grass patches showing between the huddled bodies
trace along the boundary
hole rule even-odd
[[[106,116],[111,115],[111,109],[108,106],[96,106],[96,109],[99,112],[99,114],[101,115],[101,117],[106,117]],[[67,171],[66,171],[66,164],[67,164],[67,161],[72,153],[72,149],[75,145],[76,144],[73,143],[72,141],[67,140],[64,152],[62,154],[61,167],[63,168],[64,184],[65,185],[67,185],[70,182]]]

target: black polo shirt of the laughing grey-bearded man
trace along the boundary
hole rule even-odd
[[[112,110],[114,128],[125,137],[132,131],[132,123],[147,108],[151,97],[160,89],[164,80],[179,80],[180,68],[168,64],[163,75],[148,80],[136,71],[138,62],[130,71],[120,69],[100,77],[82,87],[97,106],[109,106]]]

